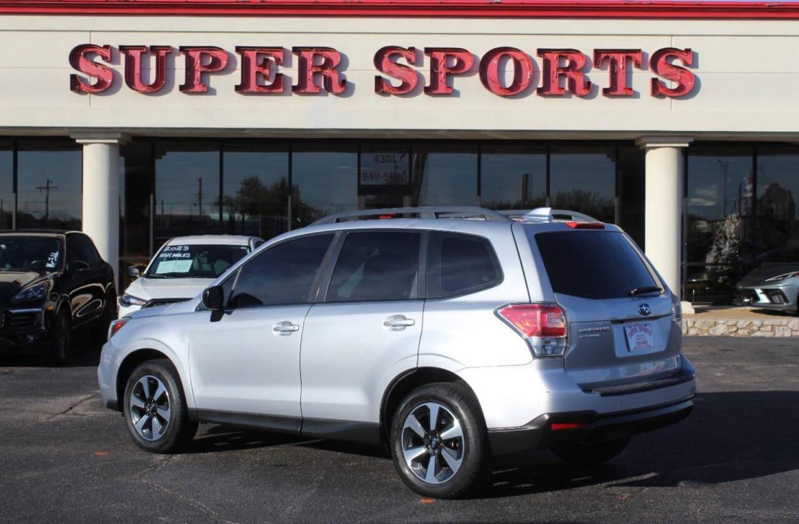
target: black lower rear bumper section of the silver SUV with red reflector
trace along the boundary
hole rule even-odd
[[[494,455],[551,447],[556,444],[596,443],[620,439],[670,426],[685,419],[694,408],[693,395],[676,403],[642,410],[601,415],[595,411],[544,414],[522,427],[488,431]],[[566,427],[567,429],[553,429]]]

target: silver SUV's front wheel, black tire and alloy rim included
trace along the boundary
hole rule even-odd
[[[169,359],[148,360],[133,370],[122,409],[131,439],[145,451],[175,453],[197,433],[180,377]]]

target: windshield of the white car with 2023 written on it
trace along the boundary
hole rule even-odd
[[[147,268],[147,278],[214,279],[249,252],[247,246],[173,244],[158,252]]]

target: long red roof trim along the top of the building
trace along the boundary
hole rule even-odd
[[[674,0],[0,0],[0,14],[799,19],[799,2]]]

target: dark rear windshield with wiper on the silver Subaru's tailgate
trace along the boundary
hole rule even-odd
[[[552,291],[584,299],[617,299],[635,288],[658,286],[620,232],[540,232],[535,243]]]

